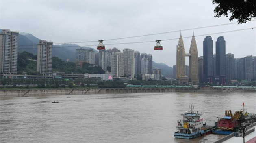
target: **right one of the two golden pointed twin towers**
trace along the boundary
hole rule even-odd
[[[191,83],[198,83],[198,50],[194,34],[189,49],[189,80]]]

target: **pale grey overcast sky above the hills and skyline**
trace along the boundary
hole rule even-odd
[[[95,41],[182,29],[234,23],[228,17],[215,18],[212,0],[0,0],[0,29],[31,33],[54,43]],[[256,28],[238,32],[212,34],[256,27],[256,21],[244,24],[195,29],[194,34],[209,34],[213,38],[213,53],[217,37],[224,36],[226,53],[235,58],[256,55]],[[193,30],[181,31],[183,37]],[[104,44],[141,42],[178,38],[180,32],[104,41]],[[205,36],[195,37],[198,55],[203,55]],[[191,37],[184,38],[189,53]],[[97,42],[79,45],[97,45]],[[153,61],[169,66],[176,64],[178,40],[162,41],[163,50],[154,50],[156,42],[107,45],[106,49],[130,48],[150,53]],[[91,46],[96,48],[96,46]],[[186,63],[188,65],[188,57]]]

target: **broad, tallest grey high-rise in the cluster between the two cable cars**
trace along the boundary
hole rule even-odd
[[[124,49],[124,75],[134,77],[134,50]]]

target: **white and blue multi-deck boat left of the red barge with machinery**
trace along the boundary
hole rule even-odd
[[[215,130],[215,122],[209,123],[209,125],[204,124],[203,119],[200,118],[202,114],[198,113],[198,111],[196,113],[193,112],[192,105],[189,108],[191,109],[190,111],[181,114],[183,120],[177,121],[176,128],[178,128],[178,132],[174,133],[175,138],[193,139],[210,134],[212,130]]]

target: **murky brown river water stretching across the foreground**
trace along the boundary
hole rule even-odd
[[[256,93],[131,93],[0,98],[1,143],[211,143],[223,135],[175,139],[176,121],[194,105],[204,121],[245,103],[256,113]],[[52,103],[59,101],[59,103]]]

